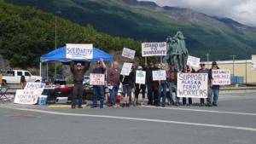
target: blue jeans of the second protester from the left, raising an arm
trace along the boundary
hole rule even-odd
[[[104,105],[105,98],[105,89],[103,85],[94,85],[93,86],[93,97],[92,97],[92,106],[97,106],[97,98],[100,97],[101,106]]]

